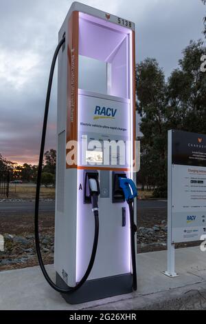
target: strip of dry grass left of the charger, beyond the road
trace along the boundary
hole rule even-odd
[[[25,185],[25,184],[10,184],[10,194],[9,198],[13,199],[34,199],[36,194],[35,185]],[[49,187],[41,188],[41,199],[54,199],[55,198],[55,188]]]

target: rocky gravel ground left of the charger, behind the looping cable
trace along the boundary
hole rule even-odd
[[[38,264],[34,246],[34,214],[1,214],[0,233],[5,239],[0,252],[0,271]],[[40,213],[41,249],[45,264],[53,263],[54,213]]]

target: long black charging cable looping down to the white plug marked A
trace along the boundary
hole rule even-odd
[[[49,83],[47,88],[47,99],[45,103],[45,116],[44,116],[44,122],[43,122],[43,132],[42,132],[42,139],[41,139],[41,150],[39,155],[39,161],[38,161],[38,174],[37,174],[37,181],[36,181],[36,201],[35,201],[35,216],[34,216],[34,227],[35,227],[35,242],[36,242],[36,252],[38,256],[38,263],[41,267],[41,270],[43,272],[43,275],[45,276],[45,279],[49,285],[54,288],[57,292],[60,292],[62,294],[65,293],[71,293],[78,290],[84,283],[87,281],[89,274],[91,273],[91,270],[93,268],[93,264],[95,261],[95,255],[98,248],[98,238],[99,238],[99,213],[98,208],[95,206],[93,207],[93,214],[95,219],[95,234],[93,239],[93,248],[91,252],[91,259],[89,261],[89,265],[87,267],[87,271],[85,272],[84,276],[82,277],[81,281],[77,283],[75,287],[69,287],[68,289],[62,289],[58,287],[52,279],[50,279],[49,275],[47,274],[47,271],[45,270],[45,265],[43,263],[43,259],[41,256],[41,247],[39,243],[39,228],[38,228],[38,209],[39,209],[39,196],[40,196],[40,189],[41,189],[41,174],[42,174],[42,167],[43,167],[43,157],[44,157],[44,150],[45,150],[45,138],[46,138],[46,132],[47,132],[47,119],[48,119],[48,112],[49,112],[49,101],[50,101],[50,95],[52,90],[52,81],[54,77],[54,68],[56,65],[56,59],[58,57],[58,52],[60,51],[60,48],[65,43],[65,37],[62,38],[62,40],[58,43],[58,46],[56,48],[56,51],[54,52],[54,57],[52,60],[51,70],[49,74]],[[93,199],[93,196],[95,197]],[[95,202],[97,201],[97,193],[95,191],[91,190],[91,199]]]

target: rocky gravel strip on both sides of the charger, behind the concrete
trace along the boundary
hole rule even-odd
[[[137,252],[166,250],[167,210],[137,211]],[[34,214],[1,214],[0,233],[5,250],[0,252],[0,271],[38,264],[34,246]],[[41,249],[45,264],[53,263],[54,212],[40,213]],[[198,245],[179,244],[177,247]]]

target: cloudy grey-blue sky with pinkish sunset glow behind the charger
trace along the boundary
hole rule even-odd
[[[37,163],[49,68],[70,0],[1,0],[0,153]],[[82,0],[136,23],[137,61],[155,57],[169,76],[190,39],[203,37],[201,0]],[[56,78],[47,148],[56,147]]]

